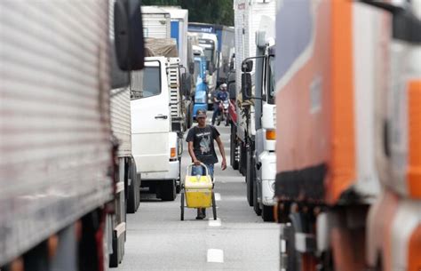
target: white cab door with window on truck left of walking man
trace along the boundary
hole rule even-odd
[[[143,76],[131,76],[131,147],[141,172],[168,171],[171,116],[165,66],[145,60]]]

